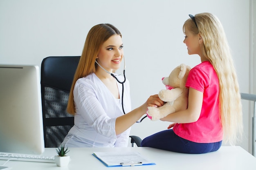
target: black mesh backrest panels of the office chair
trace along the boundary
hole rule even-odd
[[[45,86],[45,114],[44,118],[73,117],[67,113],[69,92]],[[45,147],[55,148],[61,145],[67,132],[73,125],[46,126]]]

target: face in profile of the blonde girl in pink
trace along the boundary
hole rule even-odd
[[[185,39],[183,42],[187,46],[188,54],[198,54],[200,55],[200,36],[199,35],[194,35],[189,29],[184,30],[185,33]]]

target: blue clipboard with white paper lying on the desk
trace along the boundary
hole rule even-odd
[[[155,165],[139,152],[93,152],[92,155],[107,167]]]

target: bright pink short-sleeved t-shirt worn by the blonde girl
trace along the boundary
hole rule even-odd
[[[223,130],[219,116],[219,81],[211,63],[202,62],[192,68],[186,87],[204,93],[200,117],[193,123],[175,124],[173,131],[179,137],[197,143],[221,141]]]

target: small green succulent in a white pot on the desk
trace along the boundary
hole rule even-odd
[[[67,150],[68,148],[65,149],[65,145],[61,146],[60,148],[56,149],[58,155],[55,155],[54,159],[57,164],[57,166],[67,166],[69,161],[70,161],[70,156],[67,156]]]

